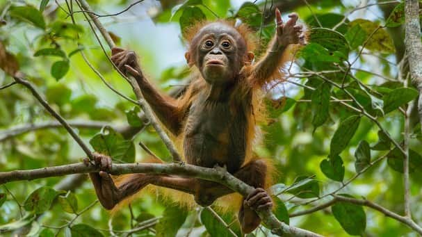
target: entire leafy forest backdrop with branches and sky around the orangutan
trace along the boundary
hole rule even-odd
[[[247,236],[422,234],[422,42],[419,1],[0,1],[0,235],[242,236],[233,211],[142,193],[98,202],[83,158],[113,174],[184,172],[252,189],[221,169],[177,161],[111,47],[136,51],[161,91],[189,83],[186,29],[247,25],[256,58],[298,13],[307,44],[264,85],[268,118],[254,147],[277,170],[275,208]],[[143,165],[156,156],[163,165]],[[45,168],[44,168],[45,167]]]

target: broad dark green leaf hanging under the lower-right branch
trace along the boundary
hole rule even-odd
[[[351,197],[350,195],[342,195]],[[364,208],[357,204],[338,202],[331,207],[334,218],[350,235],[360,236],[366,229],[366,213]]]

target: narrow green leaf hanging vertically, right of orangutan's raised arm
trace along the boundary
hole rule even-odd
[[[312,106],[312,125],[314,125],[314,131],[318,126],[321,126],[327,121],[330,111],[330,90],[331,86],[329,83],[322,83],[312,92],[311,106]]]

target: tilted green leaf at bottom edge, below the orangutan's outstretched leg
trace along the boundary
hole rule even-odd
[[[188,211],[186,209],[177,205],[167,206],[163,218],[156,224],[156,236],[176,236],[187,216]]]

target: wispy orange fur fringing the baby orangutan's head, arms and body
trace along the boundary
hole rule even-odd
[[[240,26],[235,26],[234,22],[227,22],[218,20],[218,22],[222,24],[227,24],[229,26],[232,26],[233,28],[240,33],[246,44],[247,52],[254,51],[257,47],[257,40],[252,36],[253,33],[250,31],[250,28],[245,26],[244,24],[241,24]],[[194,24],[193,26],[190,26],[185,32],[184,32],[184,38],[188,41],[188,44],[193,40],[195,35],[202,27],[204,27],[206,24],[209,24],[211,22],[197,22],[197,24]],[[245,63],[243,66],[239,76],[238,80],[241,80],[238,82],[240,85],[243,85],[239,87],[238,90],[242,90],[241,93],[234,93],[234,95],[240,95],[240,96],[246,96],[248,93],[252,93],[252,113],[250,113],[250,117],[247,118],[247,126],[248,126],[248,134],[247,134],[247,151],[246,151],[246,157],[243,165],[246,163],[249,163],[250,161],[257,160],[258,158],[254,156],[254,152],[252,147],[259,144],[261,142],[261,136],[260,136],[260,129],[258,124],[262,124],[266,120],[266,110],[265,105],[263,103],[263,85],[268,83],[269,81],[282,81],[284,79],[284,73],[282,70],[279,70],[279,68],[286,63],[286,61],[291,60],[292,58],[292,52],[295,51],[293,47],[289,47],[285,51],[284,54],[282,54],[282,57],[277,59],[277,65],[273,68],[268,68],[268,70],[272,70],[271,72],[263,71],[261,74],[255,74],[254,73],[254,67],[255,65],[250,65],[249,63]],[[269,51],[267,51],[266,55],[270,54]],[[265,57],[263,56],[263,57]],[[246,60],[245,60],[246,62]],[[181,97],[176,99],[177,108],[179,110],[179,113],[184,113],[184,111],[187,111],[192,101],[195,101],[197,98],[198,92],[201,92],[203,90],[208,90],[209,86],[207,86],[206,81],[202,78],[202,75],[200,74],[199,70],[193,66],[190,68],[192,76],[192,81],[190,82],[190,85],[188,85],[188,88],[184,92]],[[269,76],[268,76],[269,75]],[[182,147],[182,138],[184,134],[180,133],[179,136],[172,137],[172,140],[175,141],[175,145],[179,151],[183,151]],[[273,178],[277,176],[277,171],[275,170],[275,166],[273,164],[273,160],[268,158],[263,158],[263,160],[267,164],[267,174],[266,174],[266,182],[265,182],[265,189],[268,190],[270,186],[273,185]],[[147,162],[154,162],[154,163],[161,163],[161,161],[158,161],[156,159],[151,160]],[[123,175],[121,177],[117,177],[115,179],[115,183],[118,186],[120,183],[124,182],[127,179],[128,175]],[[163,199],[168,200],[168,202],[177,202],[181,206],[186,206],[188,208],[196,206],[195,201],[193,200],[193,195],[183,193],[181,191],[172,190],[169,188],[161,188],[156,186],[147,186],[143,190],[147,191],[148,193],[158,193],[163,197]],[[131,197],[127,198],[124,202],[121,202],[119,205],[117,205],[116,209],[120,209],[120,207],[127,202],[131,202],[134,198],[138,197],[139,193],[136,195],[132,195]],[[241,195],[238,193],[234,193],[231,195],[226,195],[224,197],[220,197],[216,203],[215,206],[218,207],[221,211],[238,211],[241,207]]]

